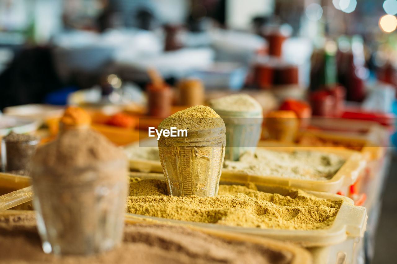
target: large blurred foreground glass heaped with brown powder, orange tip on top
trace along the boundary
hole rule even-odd
[[[54,142],[32,163],[37,226],[44,252],[89,255],[121,243],[127,161],[123,151],[91,130],[89,116],[69,107]]]

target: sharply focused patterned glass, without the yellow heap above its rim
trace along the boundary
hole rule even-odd
[[[158,141],[160,162],[170,194],[217,195],[225,143],[225,127],[188,130],[187,137],[161,136]]]

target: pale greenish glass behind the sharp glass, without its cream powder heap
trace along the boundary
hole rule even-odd
[[[262,133],[262,111],[222,111],[213,106],[211,108],[225,122],[225,159],[236,161],[244,152],[254,152]]]

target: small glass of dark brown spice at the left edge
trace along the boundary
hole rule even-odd
[[[2,170],[26,171],[40,140],[36,136],[11,132],[2,139]]]

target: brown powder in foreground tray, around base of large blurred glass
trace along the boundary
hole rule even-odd
[[[31,214],[29,214],[31,215]],[[21,216],[19,218],[24,218]],[[18,216],[12,216],[16,219]],[[0,255],[6,263],[264,263],[288,264],[294,254],[243,241],[229,241],[199,231],[169,225],[126,225],[124,242],[114,250],[96,256],[62,256],[45,254],[31,220],[16,228],[14,220],[0,218]],[[4,228],[3,222],[8,222]],[[32,228],[33,227],[33,228]]]

